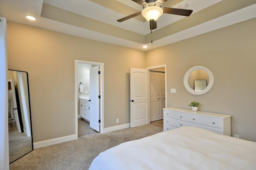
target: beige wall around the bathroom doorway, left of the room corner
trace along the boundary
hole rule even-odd
[[[28,72],[33,142],[75,134],[75,60],[104,63],[105,128],[130,122],[130,67],[145,52],[14,22],[7,40],[8,68]]]

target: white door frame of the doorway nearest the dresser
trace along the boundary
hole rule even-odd
[[[167,104],[167,65],[164,64],[164,65],[160,65],[160,66],[153,66],[153,67],[147,67],[146,69],[148,70],[155,70],[155,69],[158,69],[158,68],[163,68],[164,67],[164,73],[165,73],[165,107],[166,107],[166,104]],[[148,82],[150,82],[150,74],[148,74]],[[150,93],[150,83],[148,83],[148,96]],[[148,102],[150,103],[150,97],[148,97]],[[148,104],[148,123],[150,124],[150,104]]]

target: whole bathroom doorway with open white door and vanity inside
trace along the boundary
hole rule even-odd
[[[90,73],[92,68],[98,68],[97,74]],[[91,75],[90,75],[91,74]],[[104,64],[98,62],[88,62],[82,60],[75,60],[75,129],[76,129],[76,137],[86,136],[89,134],[94,134],[101,132],[103,133],[103,94],[104,94]],[[95,87],[96,85],[92,85],[92,82],[97,80],[98,90],[97,94],[95,93],[95,88],[91,88],[90,86]],[[91,85],[90,85],[91,84]],[[95,100],[98,100],[97,106],[90,107],[91,97],[97,96],[94,98],[92,104],[94,104]],[[99,97],[98,97],[99,96]],[[96,107],[96,109],[95,109]],[[91,109],[91,110],[90,110]],[[96,111],[95,111],[96,110]],[[97,120],[96,120],[97,119]],[[98,128],[95,128],[96,126]],[[93,126],[91,126],[92,124]],[[94,130],[96,129],[96,130]],[[98,131],[98,132],[97,132]]]

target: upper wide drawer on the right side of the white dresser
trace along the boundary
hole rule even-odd
[[[189,114],[188,122],[223,129],[223,119],[220,118]]]

